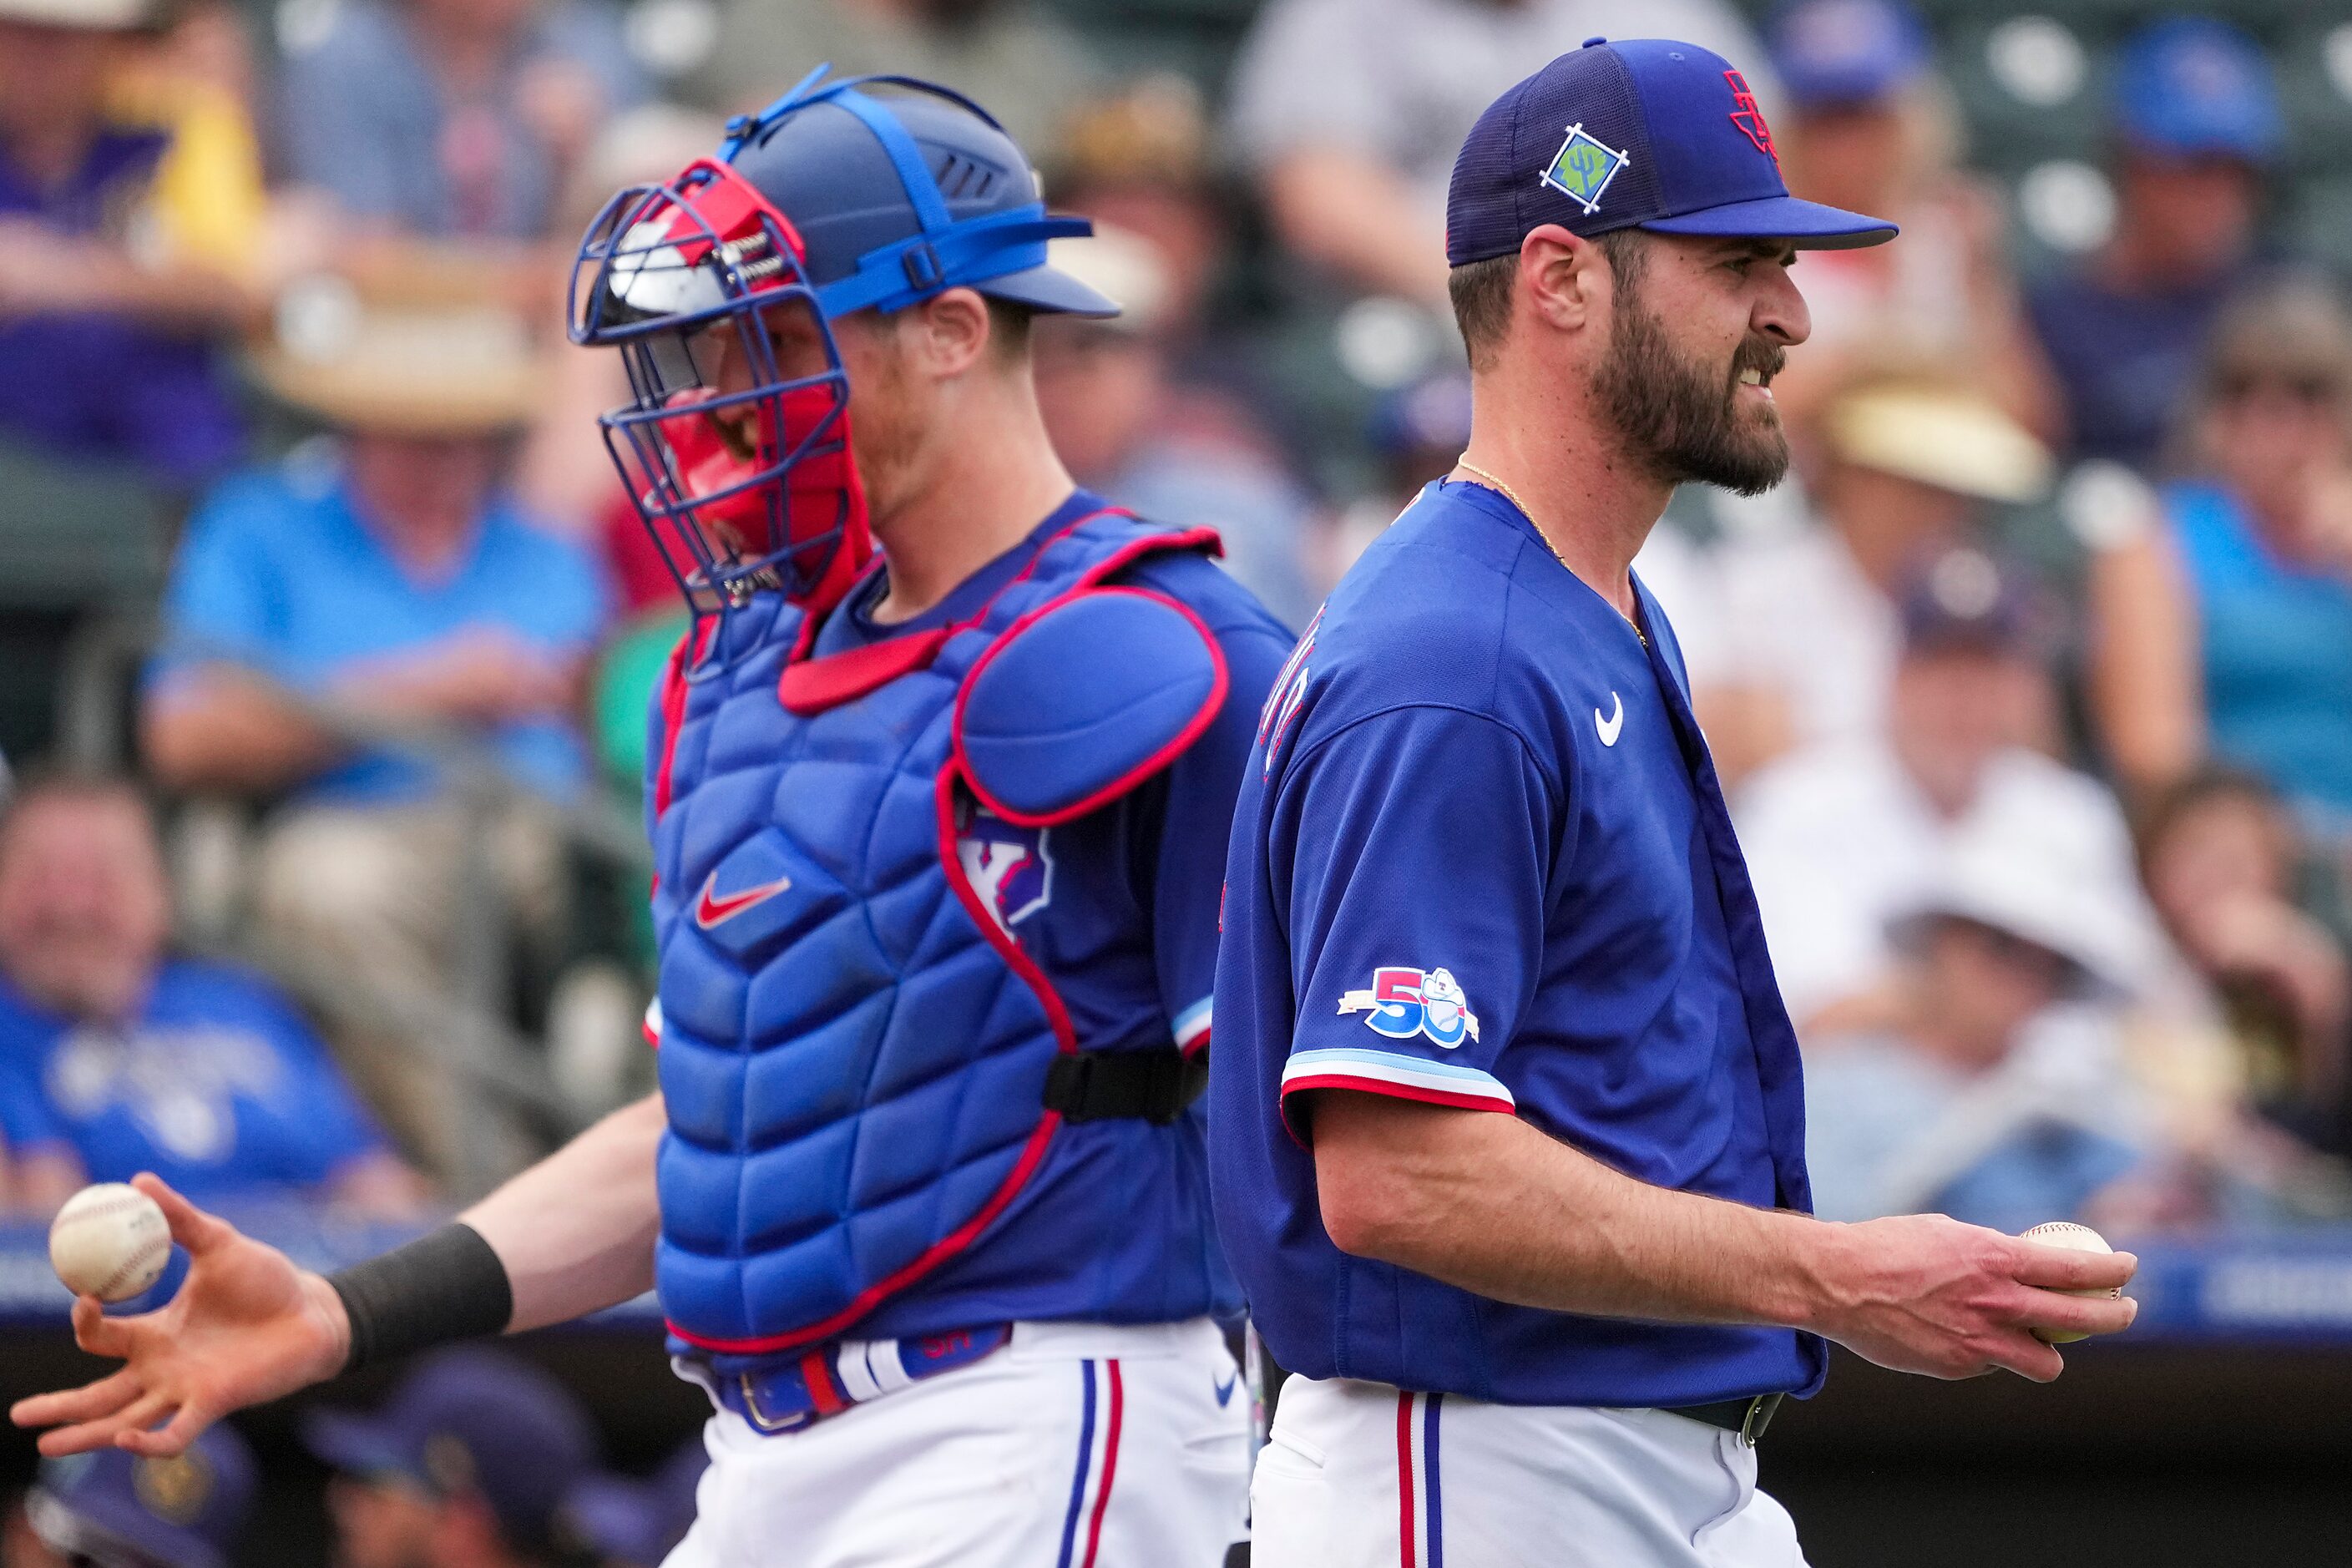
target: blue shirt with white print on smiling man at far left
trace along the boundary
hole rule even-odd
[[[0,980],[0,1133],[66,1147],[94,1182],[153,1171],[205,1201],[315,1187],[383,1133],[310,1025],[261,978],[165,961],[122,1027],[75,1023]]]

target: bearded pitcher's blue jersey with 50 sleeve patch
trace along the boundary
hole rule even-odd
[[[1538,1312],[1341,1253],[1303,1091],[1517,1114],[1658,1187],[1809,1208],[1797,1039],[1656,602],[1432,484],[1258,724],[1216,978],[1218,1232],[1282,1366],[1501,1403],[1820,1382],[1820,1340]]]

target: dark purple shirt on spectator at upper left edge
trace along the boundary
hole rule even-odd
[[[0,146],[0,221],[120,240],[113,230],[169,146],[165,129],[101,129],[82,167],[49,188]],[[68,458],[127,458],[172,484],[219,473],[242,442],[209,341],[87,310],[0,315],[0,435]]]

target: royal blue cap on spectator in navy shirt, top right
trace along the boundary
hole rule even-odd
[[[2267,162],[2286,139],[2270,61],[2223,21],[2173,16],[2143,28],[2114,66],[2124,141],[2173,155]]]

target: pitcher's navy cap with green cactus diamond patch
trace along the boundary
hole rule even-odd
[[[1748,80],[1722,54],[1665,38],[1592,38],[1470,127],[1446,193],[1446,263],[1508,256],[1543,223],[1802,249],[1896,237],[1886,219],[1792,197]]]

